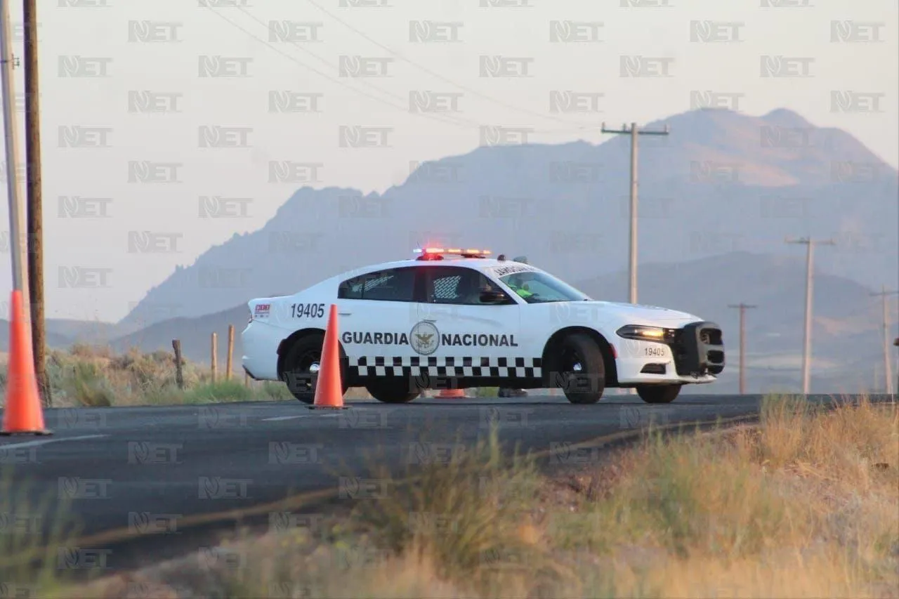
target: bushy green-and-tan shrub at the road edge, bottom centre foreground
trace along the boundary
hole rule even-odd
[[[528,514],[539,486],[533,461],[517,453],[506,460],[495,430],[474,445],[453,445],[446,457],[408,467],[399,479],[376,467],[387,495],[360,501],[355,521],[378,546],[432,559],[439,577],[469,589],[553,576],[546,541]]]

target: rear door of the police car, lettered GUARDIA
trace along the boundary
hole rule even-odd
[[[409,331],[418,319],[421,282],[418,266],[403,266],[360,274],[341,282],[337,290],[340,337],[351,371],[361,376],[385,376],[402,371],[391,366],[409,363],[415,355]],[[417,284],[416,284],[417,283]]]

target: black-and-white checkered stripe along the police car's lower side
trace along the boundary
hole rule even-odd
[[[350,358],[360,376],[517,377],[541,376],[540,358],[473,358],[433,356],[362,356]]]

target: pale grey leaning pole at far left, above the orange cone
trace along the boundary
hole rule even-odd
[[[25,241],[25,213],[19,190],[19,126],[13,98],[15,86],[13,67],[19,59],[13,57],[13,36],[10,32],[9,3],[0,0],[0,80],[3,83],[4,150],[6,157],[6,194],[9,201],[9,246],[13,262],[13,291],[22,292],[23,317],[31,317],[28,293],[28,246]],[[10,315],[12,316],[12,315]]]

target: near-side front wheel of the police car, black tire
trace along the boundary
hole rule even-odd
[[[602,352],[590,335],[574,333],[559,344],[556,367],[561,374],[565,398],[573,404],[595,404],[606,389],[606,366]]]

